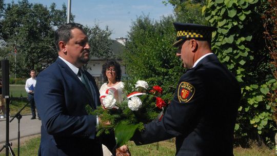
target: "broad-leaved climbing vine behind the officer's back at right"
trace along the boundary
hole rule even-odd
[[[276,130],[271,107],[275,103],[267,100],[267,94],[277,84],[264,49],[259,7],[258,0],[209,0],[203,7],[207,21],[217,27],[212,34],[213,52],[241,84],[243,97],[235,126],[240,142],[249,138],[270,141]]]

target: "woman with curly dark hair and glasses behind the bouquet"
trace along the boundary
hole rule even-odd
[[[101,86],[99,90],[101,102],[102,98],[109,93],[114,94],[116,102],[121,102],[123,99],[122,89],[124,88],[124,84],[123,82],[121,82],[120,64],[116,61],[107,61],[102,67],[102,75],[104,77],[105,83]],[[102,145],[102,147],[104,156],[112,155],[112,153],[105,145]]]

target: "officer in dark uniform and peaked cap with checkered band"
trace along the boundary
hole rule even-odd
[[[176,155],[233,155],[233,131],[241,90],[211,51],[214,27],[174,23],[177,56],[187,71],[161,121],[136,132],[137,145],[176,136]]]

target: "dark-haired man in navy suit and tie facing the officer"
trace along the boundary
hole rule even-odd
[[[100,100],[93,77],[83,69],[90,46],[82,25],[62,25],[55,45],[58,59],[39,73],[35,89],[42,120],[38,155],[103,155],[102,143],[115,153],[114,135],[96,137],[99,120],[85,109],[95,109]]]

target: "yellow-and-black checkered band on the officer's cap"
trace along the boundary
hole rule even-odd
[[[181,30],[177,31],[177,37],[185,36],[186,38],[210,38],[211,32],[204,30]]]

